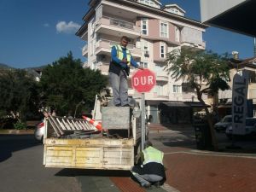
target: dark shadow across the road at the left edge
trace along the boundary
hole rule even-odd
[[[15,151],[38,144],[33,135],[0,135],[0,162],[9,159]]]

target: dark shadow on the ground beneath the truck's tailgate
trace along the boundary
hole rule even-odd
[[[97,177],[130,177],[130,171],[119,170],[92,170],[92,169],[62,169],[55,176],[76,177],[76,176],[97,176]]]

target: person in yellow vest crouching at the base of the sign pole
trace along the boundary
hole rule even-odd
[[[149,141],[140,154],[141,164],[133,166],[131,173],[142,187],[148,188],[151,184],[159,187],[166,181],[166,172],[163,164],[164,153],[153,148]]]

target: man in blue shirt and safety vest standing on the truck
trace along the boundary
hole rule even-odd
[[[113,104],[115,106],[129,107],[127,78],[130,65],[143,69],[133,60],[131,51],[127,49],[129,38],[123,36],[119,45],[114,45],[111,50],[109,65],[109,81],[113,89]]]

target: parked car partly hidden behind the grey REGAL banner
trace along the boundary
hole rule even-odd
[[[228,138],[232,138],[233,127],[229,125],[225,131]],[[256,118],[247,118],[245,126],[245,135],[235,135],[234,136],[256,136]]]

